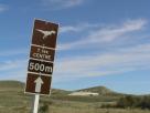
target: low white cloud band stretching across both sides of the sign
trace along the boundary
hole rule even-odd
[[[139,44],[132,48],[118,49],[115,52],[95,53],[58,59],[54,75],[74,80],[87,76],[121,74],[125,72],[150,69],[150,44]],[[21,80],[26,75],[28,61],[12,60],[0,63],[1,80]]]

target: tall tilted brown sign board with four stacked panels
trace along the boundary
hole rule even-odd
[[[50,94],[58,24],[35,20],[25,93]]]

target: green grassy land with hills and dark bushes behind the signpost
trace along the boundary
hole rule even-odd
[[[0,113],[31,113],[33,95],[24,94],[23,90],[23,83],[0,82]],[[69,96],[69,91],[54,89],[51,96],[41,96],[39,113],[150,113],[150,95],[116,94],[103,88],[92,90],[101,90],[103,93],[98,96]]]

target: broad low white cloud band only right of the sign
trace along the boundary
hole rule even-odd
[[[55,74],[66,78],[121,74],[150,69],[150,44],[119,49],[116,52],[89,54],[62,59],[56,63]]]

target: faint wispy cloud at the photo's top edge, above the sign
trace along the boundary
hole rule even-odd
[[[42,0],[44,6],[54,9],[66,9],[82,4],[85,0]]]

